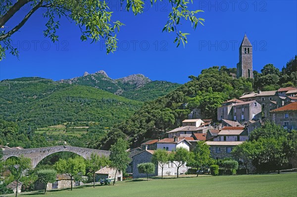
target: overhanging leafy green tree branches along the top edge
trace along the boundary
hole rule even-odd
[[[160,0],[162,1],[162,0]],[[120,0],[121,5],[125,0]],[[137,15],[144,11],[144,0],[127,0],[126,6],[123,7],[127,11],[132,9]],[[150,0],[151,5],[156,0]],[[182,42],[187,43],[187,33],[180,31],[177,26],[181,25],[180,21],[189,19],[194,29],[198,23],[202,24],[204,19],[197,18],[197,13],[202,10],[189,10],[188,4],[190,0],[169,0],[172,11],[168,15],[168,21],[165,24],[163,31],[174,32],[177,46]],[[21,8],[29,6],[30,10],[20,20],[20,23],[15,27],[9,28],[7,22],[16,13],[21,12]],[[37,10],[43,11],[43,16],[48,18],[46,30],[43,32],[45,37],[49,37],[53,42],[58,40],[56,30],[59,28],[60,17],[66,17],[73,21],[81,31],[81,40],[86,41],[91,39],[92,42],[103,39],[106,45],[107,53],[116,50],[117,33],[123,25],[120,21],[115,21],[111,18],[112,12],[109,10],[106,1],[102,0],[1,0],[0,1],[0,60],[5,57],[5,51],[9,50],[13,55],[17,54],[17,49],[11,44],[10,36],[16,33],[35,13]],[[122,8],[122,6],[121,6]],[[28,9],[26,7],[26,9]]]

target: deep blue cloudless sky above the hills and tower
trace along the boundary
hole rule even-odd
[[[297,55],[297,1],[209,1],[194,0],[191,9],[202,9],[198,17],[205,19],[194,31],[187,21],[180,27],[190,33],[185,48],[176,48],[173,33],[162,33],[170,6],[167,1],[153,7],[145,4],[145,12],[134,16],[120,11],[118,0],[110,1],[113,19],[125,24],[120,30],[119,49],[106,55],[102,42],[82,42],[74,23],[60,20],[59,42],[44,38],[46,19],[39,10],[11,39],[19,48],[19,59],[7,54],[0,62],[0,80],[19,77],[43,77],[53,80],[82,76],[85,71],[104,70],[117,79],[144,74],[152,80],[187,82],[211,66],[236,67],[239,45],[245,35],[253,44],[253,69],[260,72],[268,63],[281,69]],[[26,11],[26,8],[22,10]],[[21,19],[13,17],[6,26]]]

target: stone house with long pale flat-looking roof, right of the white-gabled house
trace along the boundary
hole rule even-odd
[[[212,158],[222,159],[231,157],[233,148],[244,142],[206,141],[205,143],[210,146],[209,150]]]

